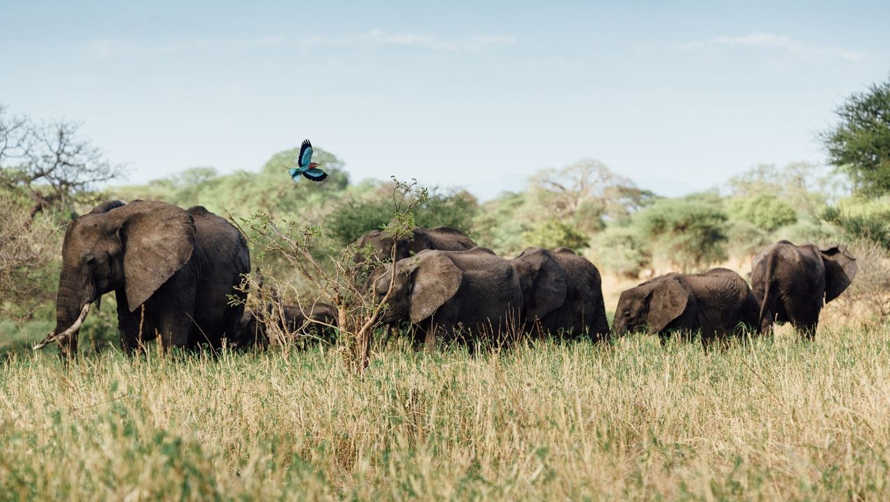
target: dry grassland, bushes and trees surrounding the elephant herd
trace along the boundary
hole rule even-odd
[[[422,180],[352,180],[318,148],[330,178],[312,186],[285,176],[296,149],[258,172],[194,167],[121,185],[125,166],[77,124],[0,108],[0,498],[886,499],[888,89],[837,109],[819,134],[830,166],[753,166],[681,198],[581,159],[479,201]],[[400,192],[408,205],[393,205]],[[453,226],[499,255],[570,247],[603,272],[609,311],[666,271],[746,277],[778,239],[844,243],[859,272],[814,342],[780,329],[711,351],[629,336],[427,353],[376,330],[363,372],[343,343],[129,359],[106,296],[77,360],[31,352],[53,327],[67,223],[113,198],[231,218],[265,287],[290,302],[348,291],[344,248],[384,225]],[[302,254],[276,251],[271,223]]]

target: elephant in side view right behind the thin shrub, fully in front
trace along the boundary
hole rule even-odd
[[[371,278],[378,300],[390,286],[392,266],[379,267]],[[520,328],[519,276],[490,249],[424,250],[394,266],[389,308],[381,320],[410,320],[427,348],[440,339],[500,343]]]

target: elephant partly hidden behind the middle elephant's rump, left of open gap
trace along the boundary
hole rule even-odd
[[[568,247],[526,247],[510,260],[522,287],[526,332],[601,340],[609,334],[600,271]]]

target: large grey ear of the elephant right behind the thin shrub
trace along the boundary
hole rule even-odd
[[[418,255],[420,263],[414,271],[409,315],[411,322],[420,322],[457,293],[464,273],[448,256],[425,251]]]

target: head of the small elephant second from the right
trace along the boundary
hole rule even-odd
[[[689,292],[676,277],[653,279],[621,293],[612,331],[616,335],[648,328],[658,333],[680,317],[689,303]]]

